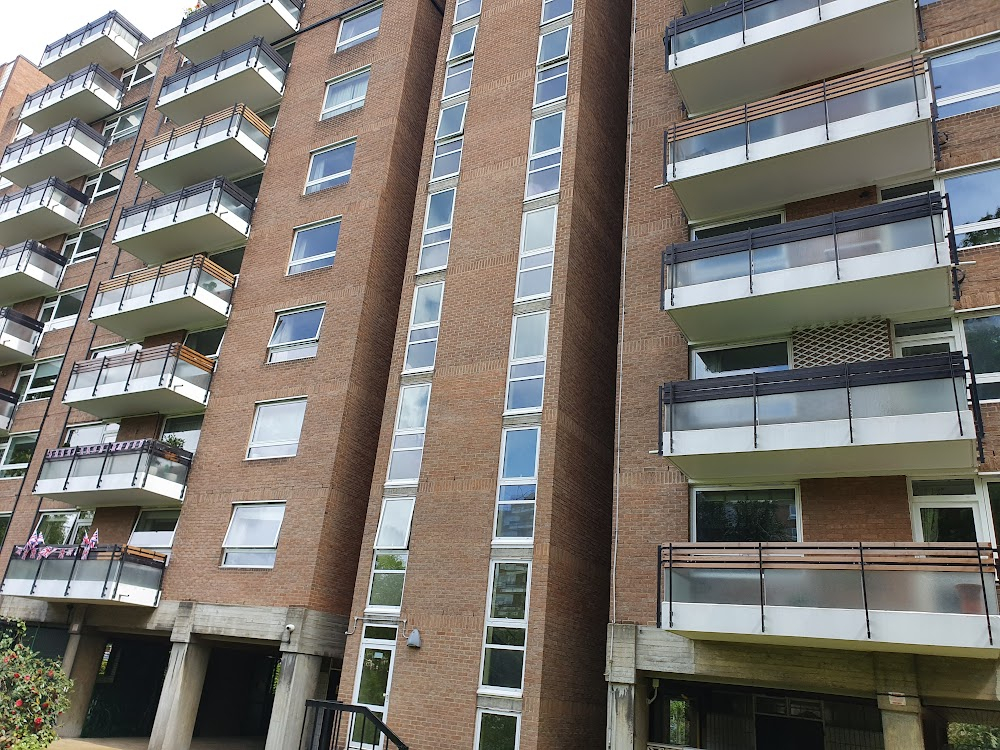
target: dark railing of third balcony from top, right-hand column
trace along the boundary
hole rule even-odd
[[[940,248],[940,245],[943,244],[945,245],[943,249],[947,249],[947,258],[952,268],[957,269],[959,263],[958,247],[955,242],[954,231],[951,229],[951,222],[948,222],[947,229],[944,228],[943,223],[939,226],[939,222],[943,220],[943,217],[948,212],[948,206],[947,196],[941,196],[938,193],[926,193],[924,195],[914,195],[908,198],[878,203],[873,206],[855,208],[849,211],[838,211],[826,216],[800,219],[784,224],[775,224],[743,232],[710,237],[704,240],[670,245],[663,251],[660,267],[661,308],[666,309],[668,305],[671,307],[674,305],[674,293],[678,286],[696,285],[697,282],[684,283],[683,279],[679,278],[679,269],[683,267],[683,264],[696,263],[720,256],[742,254],[745,256],[745,266],[743,264],[732,264],[732,267],[727,266],[727,271],[724,275],[716,274],[709,280],[719,281],[723,278],[729,279],[746,276],[750,294],[754,293],[755,274],[759,276],[761,273],[769,271],[825,263],[831,260],[834,263],[837,279],[839,280],[840,264],[845,257],[854,258],[863,255],[875,255],[888,250],[906,249],[905,247],[884,247],[882,241],[869,242],[869,246],[863,248],[856,246],[844,248],[841,246],[842,241],[838,239],[839,235],[847,232],[857,232],[862,229],[871,229],[873,227],[888,227],[924,218],[928,219],[929,231],[926,237],[922,236],[920,239],[926,239],[926,244],[933,243],[935,263],[941,264],[942,262],[940,253],[940,249],[942,248]],[[767,248],[779,248],[818,237],[830,237],[830,245],[826,248],[828,250],[827,253],[817,256],[813,260],[807,260],[805,257],[783,257],[782,260],[785,265],[778,265],[772,260],[769,266],[761,264],[765,266],[763,269],[758,267],[755,262],[755,251],[759,252]],[[743,267],[741,268],[741,266]],[[961,288],[955,283],[956,278],[956,275],[953,273],[953,294],[957,300],[961,296]],[[668,291],[670,293],[669,302],[667,301]]]

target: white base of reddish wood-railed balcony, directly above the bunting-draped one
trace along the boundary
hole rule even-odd
[[[169,372],[164,381],[170,379]],[[173,388],[144,388],[142,382],[102,385],[95,393],[91,388],[67,390],[63,403],[101,419],[134,417],[140,414],[193,414],[205,409],[205,391],[189,383],[175,381]],[[200,396],[200,398],[199,398]]]

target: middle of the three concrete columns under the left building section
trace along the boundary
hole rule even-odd
[[[197,641],[174,642],[167,676],[149,738],[149,750],[188,750],[198,718],[211,648]]]

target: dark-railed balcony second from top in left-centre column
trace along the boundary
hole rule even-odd
[[[164,79],[156,108],[176,123],[217,112],[222,102],[242,102],[260,112],[281,101],[287,71],[281,55],[253,39]]]

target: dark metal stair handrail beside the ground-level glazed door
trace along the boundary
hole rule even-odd
[[[381,750],[383,737],[396,750],[409,750],[366,706],[306,701],[301,743],[305,750]]]

